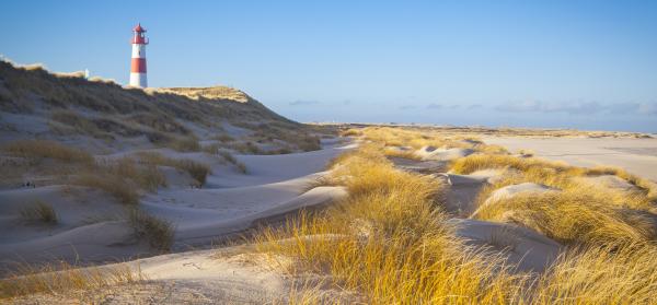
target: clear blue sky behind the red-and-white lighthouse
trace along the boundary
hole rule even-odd
[[[657,132],[657,1],[8,1],[0,54],[244,90],[300,121]]]

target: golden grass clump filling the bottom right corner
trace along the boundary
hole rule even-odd
[[[538,281],[532,304],[657,304],[657,248],[574,248]]]

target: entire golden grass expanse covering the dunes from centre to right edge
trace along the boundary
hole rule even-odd
[[[292,274],[328,274],[332,284],[372,304],[657,303],[657,188],[652,181],[616,168],[511,155],[472,138],[380,127],[343,134],[359,139],[360,146],[334,160],[320,184],[345,186],[348,197],[254,237],[261,251],[296,259]],[[418,160],[414,151],[423,146],[472,150],[446,163],[452,173],[499,169],[502,178],[481,191],[482,209],[472,218],[535,230],[564,246],[558,259],[542,272],[519,272],[504,250],[466,245],[443,209],[449,186],[433,175],[395,168],[389,159]],[[633,189],[606,189],[581,179],[602,175],[622,178]],[[484,204],[494,190],[519,183],[561,191]]]

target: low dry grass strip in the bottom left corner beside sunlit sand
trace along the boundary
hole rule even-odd
[[[44,267],[23,265],[18,271],[0,280],[0,301],[35,293],[58,294],[73,290],[93,290],[142,280],[139,271],[132,271],[125,265],[83,269],[64,261]]]

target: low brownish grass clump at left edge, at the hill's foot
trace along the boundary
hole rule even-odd
[[[12,156],[31,159],[55,159],[67,163],[91,163],[93,156],[84,151],[72,149],[48,140],[19,140],[2,146],[2,151]]]

